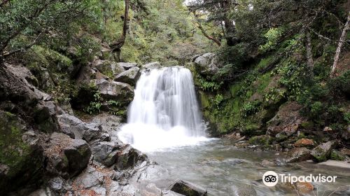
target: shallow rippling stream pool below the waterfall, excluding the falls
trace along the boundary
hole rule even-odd
[[[147,153],[151,160],[168,169],[169,174],[155,179],[160,188],[167,188],[176,179],[190,181],[207,188],[209,195],[232,195],[237,186],[253,186],[257,195],[297,195],[293,188],[278,183],[269,188],[262,183],[262,174],[271,170],[277,174],[296,176],[322,174],[337,176],[335,183],[313,183],[314,192],[306,195],[350,195],[350,169],[328,167],[311,162],[283,164],[276,152],[254,152],[233,146],[233,141],[220,139],[195,146],[162,149]],[[278,166],[263,167],[262,160],[281,160]],[[302,193],[300,193],[302,195]],[[305,195],[305,194],[304,194]]]

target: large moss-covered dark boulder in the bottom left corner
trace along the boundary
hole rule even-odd
[[[37,186],[43,177],[43,148],[18,116],[0,111],[0,195]]]

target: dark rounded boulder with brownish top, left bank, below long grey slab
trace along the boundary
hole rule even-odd
[[[73,139],[71,146],[64,148],[64,155],[68,160],[68,172],[71,176],[79,174],[89,163],[90,146],[83,139]]]

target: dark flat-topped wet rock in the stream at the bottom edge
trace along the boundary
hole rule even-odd
[[[182,195],[193,195],[193,196],[207,195],[207,190],[205,190],[204,188],[183,180],[176,180],[172,184],[172,186],[169,187],[169,190],[172,190],[175,193],[180,193]]]

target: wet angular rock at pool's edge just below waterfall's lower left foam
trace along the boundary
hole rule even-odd
[[[123,147],[123,150],[118,153],[116,168],[120,170],[131,168],[137,165],[138,162],[143,162],[144,160],[146,160],[146,155],[127,144]]]

